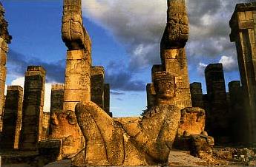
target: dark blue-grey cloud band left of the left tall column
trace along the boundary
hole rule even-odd
[[[10,75],[24,76],[27,66],[42,66],[46,70],[47,82],[64,82],[65,60],[55,63],[46,63],[38,58],[27,59],[25,55],[14,50],[8,52],[7,58],[7,68]]]

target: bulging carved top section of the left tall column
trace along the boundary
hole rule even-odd
[[[91,39],[82,23],[81,0],[65,0],[62,16],[62,40],[69,50],[91,52]]]

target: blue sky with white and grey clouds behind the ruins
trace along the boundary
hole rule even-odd
[[[64,82],[66,47],[61,38],[62,0],[1,0],[13,35],[7,84],[22,84],[27,65],[42,65],[50,83]],[[190,82],[205,81],[206,64],[222,62],[226,83],[239,80],[237,55],[229,41],[229,18],[237,2],[189,0],[186,45]],[[160,63],[166,2],[158,0],[82,1],[84,25],[92,40],[93,65],[105,67],[114,116],[140,115],[146,106],[151,66]],[[49,91],[46,93],[49,95]],[[46,106],[49,106],[47,102]],[[46,107],[46,110],[48,107]]]

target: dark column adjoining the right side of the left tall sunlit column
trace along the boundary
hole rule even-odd
[[[104,68],[91,67],[91,101],[104,109]]]

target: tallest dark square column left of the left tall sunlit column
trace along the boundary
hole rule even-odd
[[[42,140],[42,118],[45,97],[45,69],[29,66],[25,74],[20,149],[36,150]]]

